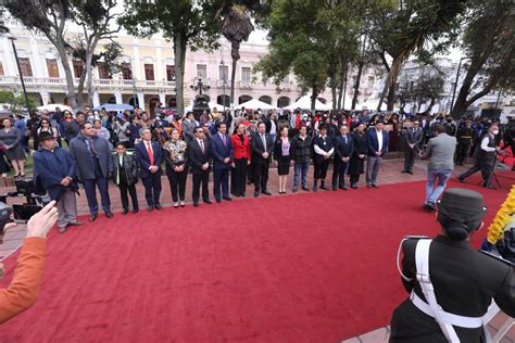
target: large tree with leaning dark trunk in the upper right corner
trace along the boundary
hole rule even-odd
[[[472,1],[462,49],[466,71],[452,116],[492,90],[515,87],[515,11],[510,1]],[[457,85],[455,86],[457,87]]]

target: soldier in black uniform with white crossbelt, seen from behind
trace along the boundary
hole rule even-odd
[[[483,225],[480,193],[451,188],[438,207],[439,236],[401,243],[402,282],[411,296],[393,312],[390,342],[487,342],[482,317],[492,300],[515,317],[514,267],[469,243]]]

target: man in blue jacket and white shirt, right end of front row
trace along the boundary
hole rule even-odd
[[[368,157],[366,158],[366,187],[377,186],[377,174],[382,164],[382,157],[388,151],[388,132],[382,131],[382,122],[376,122],[375,127],[368,131]]]

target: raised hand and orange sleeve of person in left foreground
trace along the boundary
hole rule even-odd
[[[55,201],[51,201],[27,223],[27,238],[17,259],[14,278],[7,289],[0,289],[0,323],[24,312],[39,296],[45,253],[47,250],[47,233],[58,219]],[[12,228],[16,224],[8,224]],[[4,275],[3,264],[0,263],[0,278]]]

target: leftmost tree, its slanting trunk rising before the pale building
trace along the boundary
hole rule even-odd
[[[68,0],[9,0],[4,3],[11,15],[25,27],[42,33],[55,47],[66,78],[70,105],[77,109],[72,68],[70,67],[65,36],[66,23],[73,16]]]

